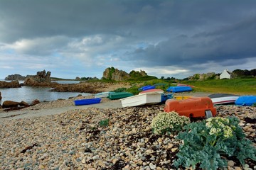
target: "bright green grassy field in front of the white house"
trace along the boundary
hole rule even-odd
[[[256,95],[256,79],[213,79],[206,81],[183,81],[183,84],[196,86],[194,91]]]

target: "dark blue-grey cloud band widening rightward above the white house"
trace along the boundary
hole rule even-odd
[[[127,59],[148,60],[163,66],[184,63],[203,63],[214,60],[255,57],[256,17],[228,24],[195,35],[176,38],[129,52]],[[161,60],[159,60],[161,57]]]

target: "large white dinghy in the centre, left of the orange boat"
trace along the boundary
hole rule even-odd
[[[161,103],[161,94],[145,93],[120,99],[123,107],[153,105]]]

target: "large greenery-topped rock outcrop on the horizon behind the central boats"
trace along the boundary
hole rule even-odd
[[[123,81],[130,79],[132,77],[145,77],[147,76],[145,71],[135,72],[134,70],[130,72],[129,74],[127,72],[124,72],[119,69],[114,69],[114,67],[109,67],[105,69],[103,72],[103,78],[104,79],[111,79],[114,81]]]

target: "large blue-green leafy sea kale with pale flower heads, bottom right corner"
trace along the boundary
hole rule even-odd
[[[174,166],[200,166],[202,169],[218,169],[227,166],[228,157],[236,157],[242,165],[245,159],[256,160],[256,148],[245,138],[236,117],[209,118],[186,125],[178,140],[183,140]]]

